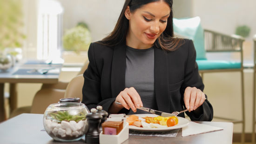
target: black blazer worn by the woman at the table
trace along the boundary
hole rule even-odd
[[[187,86],[203,91],[195,56],[194,44],[189,39],[184,39],[184,44],[173,52],[155,48],[155,97],[159,111],[184,110],[183,94]],[[125,89],[126,45],[109,47],[91,43],[88,59],[90,63],[83,74],[82,103],[89,109],[102,105],[108,111],[116,96]],[[123,108],[120,113],[128,110]],[[187,111],[187,115],[191,120],[210,121],[213,108],[205,100],[197,111]],[[179,116],[184,117],[184,113]]]

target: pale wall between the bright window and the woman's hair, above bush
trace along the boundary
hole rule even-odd
[[[124,0],[59,0],[64,7],[64,32],[80,21],[88,24],[92,40],[106,37],[121,13]]]

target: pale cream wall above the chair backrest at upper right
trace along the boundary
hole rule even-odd
[[[202,26],[221,33],[234,34],[236,26],[251,28],[249,40],[256,34],[256,0],[192,0],[193,16]]]

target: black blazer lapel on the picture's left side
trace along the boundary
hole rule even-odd
[[[111,70],[112,97],[116,97],[125,88],[126,45],[114,47]]]

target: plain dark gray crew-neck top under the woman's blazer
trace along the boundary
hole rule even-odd
[[[134,87],[144,107],[157,109],[154,86],[154,47],[135,49],[127,46],[125,87]],[[148,113],[137,109],[136,113]],[[130,111],[128,114],[134,114]]]

